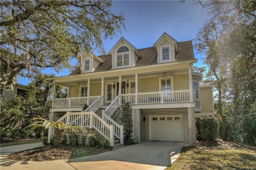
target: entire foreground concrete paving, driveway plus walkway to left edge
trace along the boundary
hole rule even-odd
[[[8,160],[1,156],[1,170],[164,170],[178,156],[183,142],[144,141],[97,155],[44,162]],[[10,147],[10,146],[8,146]],[[2,152],[1,148],[1,152]],[[7,151],[6,151],[7,152]]]

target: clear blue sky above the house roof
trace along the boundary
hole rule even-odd
[[[110,49],[124,37],[137,49],[152,47],[160,36],[166,32],[178,42],[192,40],[196,37],[199,28],[202,28],[207,18],[206,9],[202,6],[192,5],[188,2],[179,1],[113,1],[113,12],[118,14],[123,12],[125,16],[126,30],[122,29],[122,34],[113,37],[111,40],[103,40],[105,50],[108,53]],[[100,55],[94,51],[96,55]],[[195,64],[202,67],[201,55],[196,54],[198,62]],[[74,64],[76,61],[71,61]],[[45,69],[44,73],[53,73],[54,70]],[[68,75],[67,69],[56,76]],[[28,80],[19,77],[18,83],[27,85]]]

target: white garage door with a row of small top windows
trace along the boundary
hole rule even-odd
[[[150,140],[183,142],[182,116],[150,116]]]

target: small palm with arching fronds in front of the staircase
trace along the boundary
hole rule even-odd
[[[87,133],[85,127],[82,126],[72,126],[68,123],[64,124],[63,122],[56,122],[46,120],[40,116],[33,118],[32,120],[37,120],[33,122],[31,125],[28,125],[25,128],[32,127],[31,130],[35,128],[42,127],[45,129],[53,128],[54,129],[54,142],[53,146],[58,147],[62,143],[66,132],[75,132],[76,134],[82,132],[83,134]]]

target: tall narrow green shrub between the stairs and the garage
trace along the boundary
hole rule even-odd
[[[132,107],[129,103],[124,103],[121,106],[122,117],[121,122],[124,125],[124,143],[132,143],[133,121],[132,121]]]

